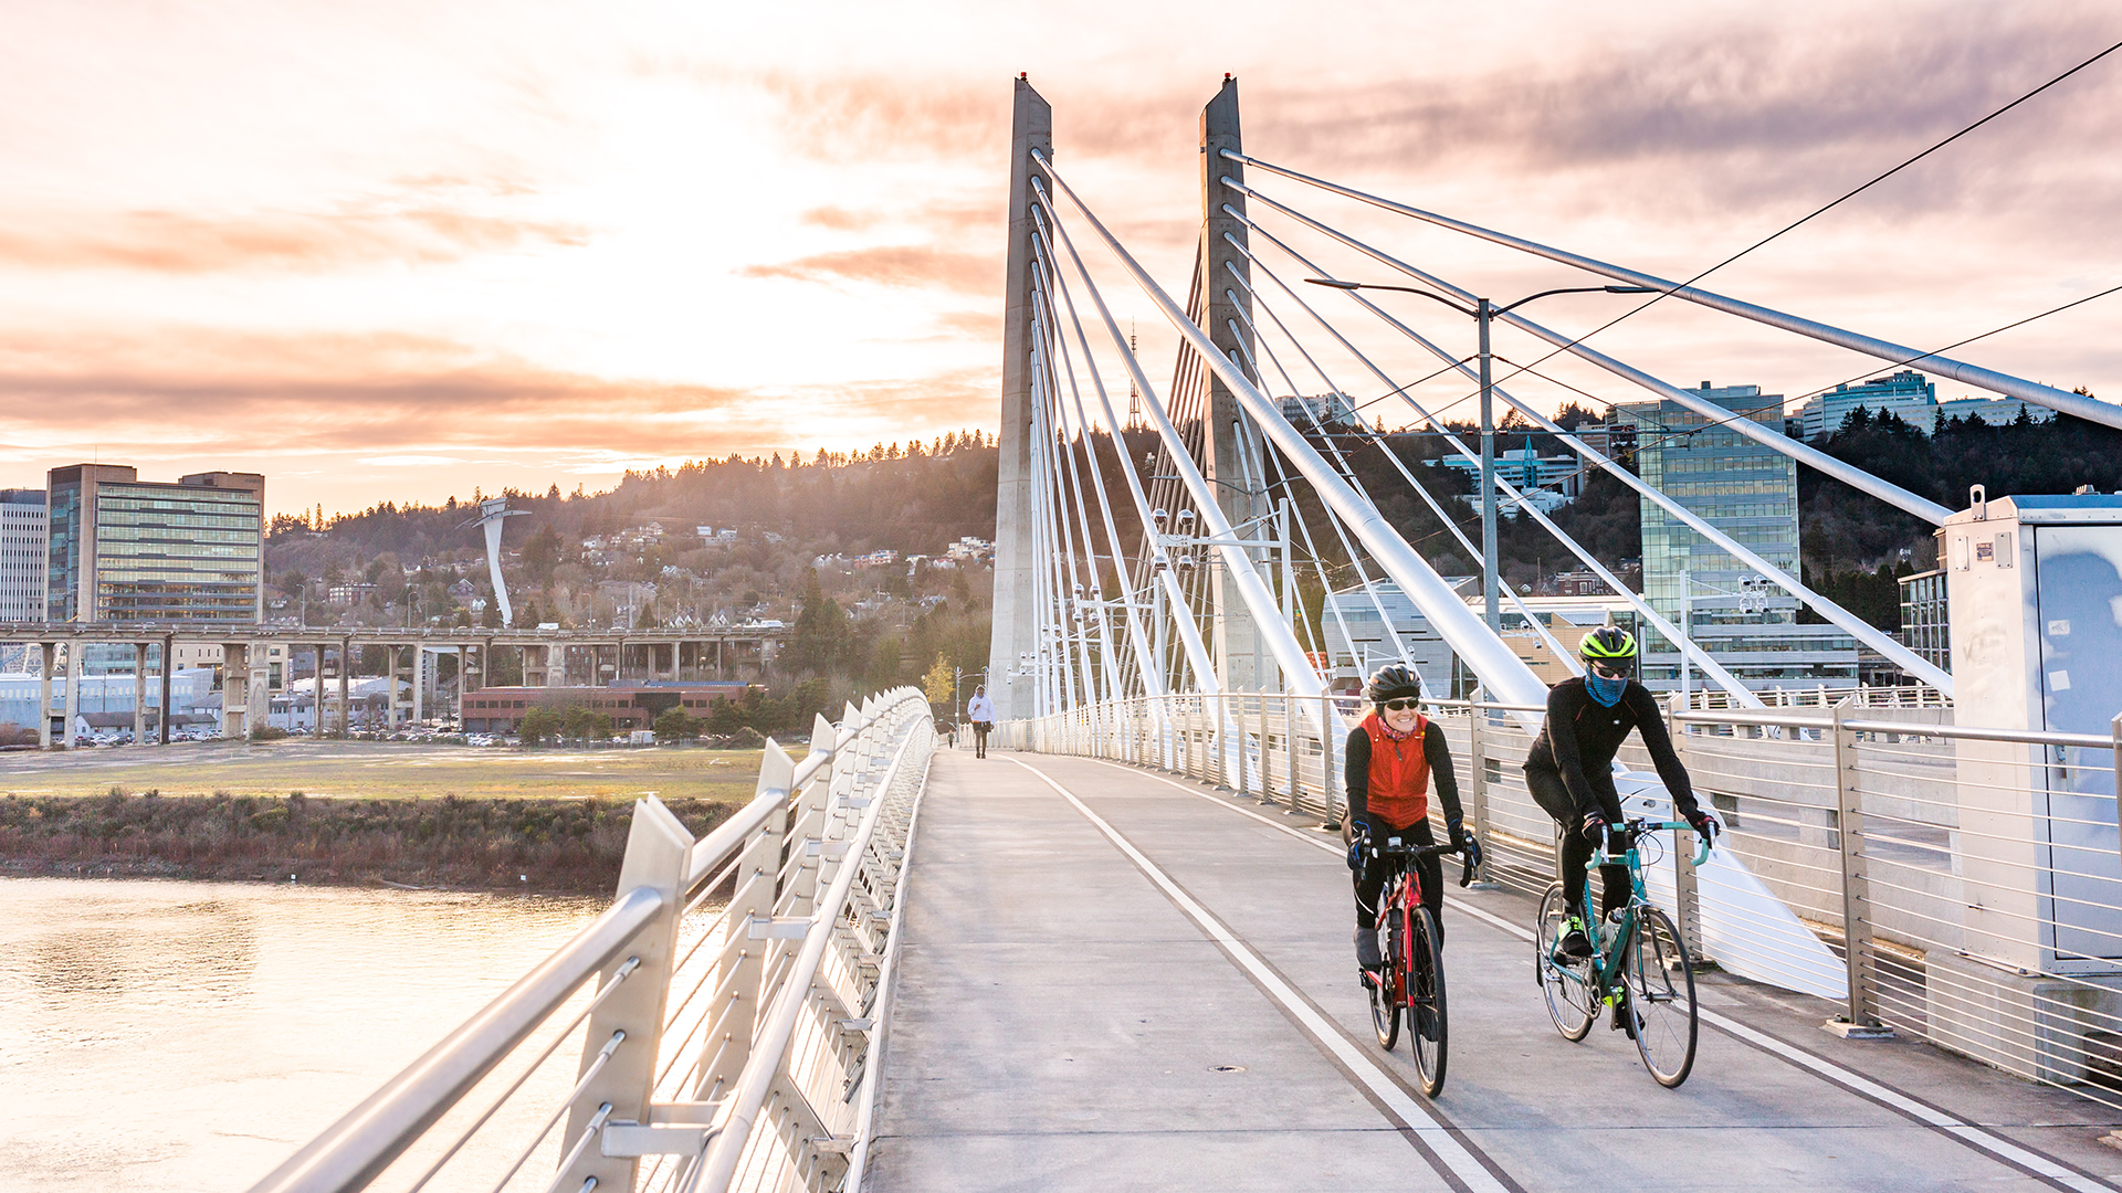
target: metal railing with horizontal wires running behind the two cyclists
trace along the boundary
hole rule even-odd
[[[1844,1002],[1838,1030],[1886,1027],[2122,1108],[2122,717],[2107,737],[2029,732],[1959,726],[1931,690],[1804,696],[1766,709],[1670,703],[1695,794],[1740,862],[1695,870],[1685,851],[1659,862],[1670,879],[1653,894],[1687,938],[1712,955],[1719,943],[1772,962],[1785,953],[1806,976],[1793,989]],[[1176,771],[1333,817],[1339,743],[1318,741],[1292,705],[1303,703],[1135,698],[1004,724],[997,741]],[[1345,698],[1326,709],[1341,726],[1356,711]],[[1526,790],[1526,711],[1538,709],[1428,705],[1483,843],[1481,877],[1536,896],[1555,879],[1558,836]],[[1636,741],[1619,762],[1651,771]],[[1766,887],[1782,909],[1763,915],[1766,900],[1740,887]],[[1795,932],[1804,949],[1791,947],[1785,911],[1810,932]],[[1840,974],[1821,972],[1829,955]]]

